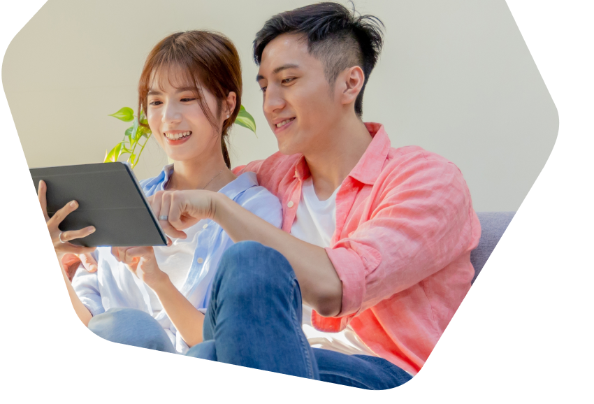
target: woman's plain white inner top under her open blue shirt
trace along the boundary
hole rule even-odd
[[[187,234],[187,238],[171,238],[173,244],[169,247],[153,247],[157,265],[164,273],[169,275],[171,283],[178,290],[182,289],[188,276],[192,260],[194,259],[194,253],[198,246],[198,234],[203,230],[202,226],[203,223],[198,222],[198,224],[185,229],[184,233]],[[147,287],[147,292],[150,298],[153,317],[157,317],[159,312],[163,310],[163,307],[157,294],[152,289]]]

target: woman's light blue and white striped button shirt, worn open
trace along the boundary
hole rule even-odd
[[[155,192],[164,190],[164,185],[172,173],[173,165],[169,165],[165,166],[157,177],[140,181],[145,195],[152,196]],[[254,215],[278,228],[281,227],[280,201],[267,189],[259,187],[255,173],[243,173],[219,192]],[[204,226],[205,224],[208,226]],[[219,260],[224,251],[233,245],[233,241],[221,226],[210,219],[201,220],[194,226],[203,229],[198,233],[194,259],[180,291],[195,308],[205,312]],[[72,280],[76,294],[91,314],[99,315],[110,308],[134,308],[153,315],[150,294],[154,292],[124,264],[116,261],[110,247],[99,247],[93,255],[99,269],[95,273],[78,270]],[[187,352],[189,347],[182,340],[165,310],[161,310],[154,318],[163,326],[177,352]]]

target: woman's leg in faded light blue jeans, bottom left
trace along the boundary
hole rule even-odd
[[[109,309],[91,319],[89,330],[96,336],[117,344],[153,349],[169,354],[177,353],[161,324],[151,315],[140,310]]]

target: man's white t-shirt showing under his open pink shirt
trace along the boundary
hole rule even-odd
[[[336,229],[336,194],[326,201],[320,201],[314,190],[312,177],[303,181],[301,199],[297,206],[295,222],[291,234],[296,238],[319,247],[330,247],[330,241]],[[340,333],[324,333],[312,326],[312,308],[303,305],[303,333],[307,341],[315,348],[329,349],[343,354],[377,356],[358,338],[351,326]]]

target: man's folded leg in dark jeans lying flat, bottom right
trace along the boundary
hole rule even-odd
[[[412,376],[386,359],[366,355],[345,355],[314,348],[322,382],[365,390],[389,390],[399,387]]]

